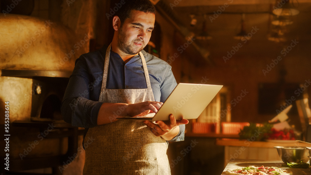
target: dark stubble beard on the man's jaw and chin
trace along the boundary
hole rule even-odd
[[[125,33],[123,33],[122,27],[118,31],[118,45],[117,47],[122,50],[124,53],[130,54],[130,55],[136,55],[142,49],[145,47],[145,41],[141,39],[134,39],[133,41],[126,41],[125,39],[127,38]],[[142,43],[142,47],[137,48],[133,46],[134,42]]]

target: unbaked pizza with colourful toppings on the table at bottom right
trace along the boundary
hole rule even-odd
[[[249,166],[245,168],[228,169],[226,174],[230,175],[292,175],[292,172],[277,167],[255,167]]]

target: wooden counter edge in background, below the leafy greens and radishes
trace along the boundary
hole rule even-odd
[[[269,140],[269,141],[251,141],[238,139],[217,139],[216,145],[221,146],[245,146],[245,147],[260,147],[273,148],[274,146],[303,146],[311,147],[311,144],[301,143],[295,140]]]

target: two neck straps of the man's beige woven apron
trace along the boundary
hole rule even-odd
[[[103,73],[103,83],[102,83],[102,87],[104,89],[106,89],[106,85],[107,85],[110,50],[111,50],[111,44],[109,44],[109,46],[106,50],[106,56],[105,56],[105,62],[104,62],[104,73]],[[147,88],[149,89],[149,88],[151,88],[151,83],[150,83],[150,79],[149,79],[149,72],[147,69],[146,60],[145,60],[145,57],[142,54],[142,52],[139,52],[139,56],[142,60],[142,67],[144,68],[146,84],[147,84]]]

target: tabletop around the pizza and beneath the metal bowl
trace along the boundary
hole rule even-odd
[[[288,171],[293,172],[293,175],[311,175],[311,168],[284,168],[282,167],[282,161],[265,161],[265,160],[251,160],[251,159],[237,159],[234,162],[229,162],[225,167],[224,171],[221,173],[223,175],[226,174],[227,169],[234,169],[240,167],[247,167],[250,165],[254,165],[256,167],[261,167],[262,165],[265,167],[278,167],[282,169],[286,169]]]

